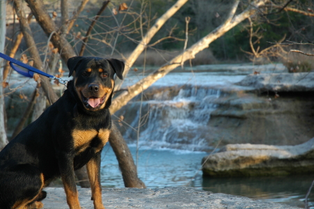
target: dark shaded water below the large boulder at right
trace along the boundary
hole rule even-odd
[[[314,175],[251,178],[207,177],[202,180],[202,189],[304,208],[304,200],[313,180]],[[314,191],[308,196],[308,206],[314,208]]]

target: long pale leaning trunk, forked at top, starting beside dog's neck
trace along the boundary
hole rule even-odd
[[[237,6],[239,4],[239,0],[237,0],[234,3],[234,6],[232,7],[229,17],[227,17],[227,20],[223,24],[214,29],[214,31],[211,31],[211,33],[202,38],[200,41],[197,41],[197,43],[195,43],[186,51],[181,53],[181,55],[174,57],[174,59],[172,59],[170,62],[162,66],[160,69],[147,75],[147,77],[135,83],[135,85],[128,87],[127,91],[119,94],[119,96],[117,96],[112,101],[112,106],[110,106],[110,113],[114,114],[122,106],[125,106],[126,103],[128,103],[128,101],[133,99],[134,96],[140,94],[142,91],[150,87],[158,79],[163,78],[163,76],[165,76],[173,69],[176,69],[178,66],[181,66],[181,62],[185,62],[188,59],[194,59],[195,55],[198,52],[204,50],[205,48],[208,48],[211,42],[223,36],[223,34],[225,34],[227,31],[232,29],[234,26],[236,26],[243,20],[246,20],[246,18],[250,17],[251,15],[254,15],[256,10],[258,10],[258,7],[263,6],[264,3],[266,2],[267,0],[254,1],[253,3],[251,3],[250,6],[248,6],[248,8],[246,8],[246,10],[244,10],[244,12],[234,17],[234,13],[236,12]]]

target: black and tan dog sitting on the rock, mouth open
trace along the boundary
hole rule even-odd
[[[107,143],[114,73],[124,62],[72,57],[73,80],[61,98],[0,152],[0,208],[42,208],[46,187],[61,176],[70,208],[80,208],[74,171],[87,165],[94,208],[104,208],[100,152]],[[69,75],[69,76],[70,76]]]

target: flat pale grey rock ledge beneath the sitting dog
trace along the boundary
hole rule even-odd
[[[45,209],[68,208],[63,188],[45,188]],[[90,189],[78,189],[81,207],[94,208]],[[278,203],[255,201],[247,197],[214,194],[193,187],[165,187],[157,189],[114,188],[103,189],[105,208],[282,208],[292,209]]]

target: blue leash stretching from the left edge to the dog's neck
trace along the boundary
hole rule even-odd
[[[68,80],[62,80],[61,78],[57,78],[54,75],[50,75],[48,73],[45,73],[43,71],[40,71],[32,66],[29,66],[28,64],[24,64],[23,62],[20,62],[16,59],[13,59],[12,57],[9,57],[8,55],[4,55],[3,53],[0,52],[0,57],[3,59],[8,60],[10,62],[10,66],[13,68],[13,70],[17,71],[17,73],[20,73],[26,77],[33,78],[33,73],[38,73],[40,75],[46,76],[47,78],[53,79],[53,80],[59,80],[59,82],[63,85],[68,82]],[[18,66],[23,67],[24,69],[20,69]]]

